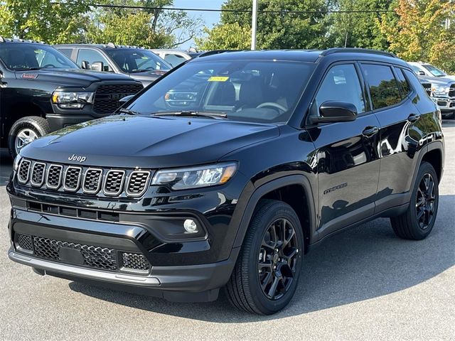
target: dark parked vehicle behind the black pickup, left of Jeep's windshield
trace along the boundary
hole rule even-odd
[[[172,66],[155,53],[136,46],[108,44],[63,44],[55,48],[82,69],[121,73],[145,86],[164,75]]]

